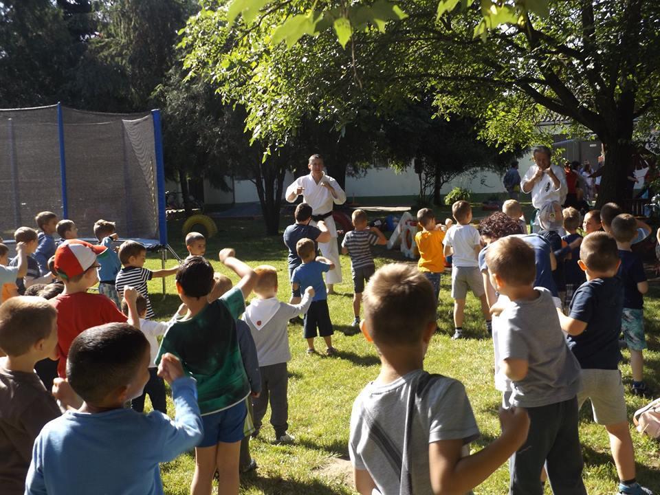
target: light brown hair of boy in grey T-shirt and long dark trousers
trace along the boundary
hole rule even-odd
[[[503,237],[486,250],[488,271],[514,287],[532,285],[536,278],[533,248],[518,237]]]

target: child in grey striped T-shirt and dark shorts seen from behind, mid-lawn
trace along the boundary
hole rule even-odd
[[[360,302],[364,284],[376,271],[371,256],[371,245],[386,245],[387,239],[377,227],[369,228],[366,225],[364,210],[354,210],[351,216],[355,230],[347,232],[342,241],[342,254],[351,256],[351,275],[353,275],[353,320],[352,326],[360,329]]]

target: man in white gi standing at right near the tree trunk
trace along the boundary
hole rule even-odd
[[[561,205],[566,201],[569,187],[566,185],[566,173],[558,165],[551,165],[552,151],[547,146],[536,146],[533,151],[534,164],[529,167],[520,181],[520,190],[531,192],[531,205],[540,210],[547,203],[558,203],[559,217]],[[534,222],[537,223],[536,220]],[[535,228],[536,232],[538,228]]]

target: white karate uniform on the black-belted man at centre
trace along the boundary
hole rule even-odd
[[[336,198],[330,194],[330,191],[327,190],[327,188],[321,185],[323,181],[329,182],[337,193]],[[304,175],[303,177],[298,177],[298,179],[294,180],[293,184],[287,187],[287,192],[285,193],[287,201],[289,201],[289,195],[292,193],[295,194],[296,189],[299,187],[303,188],[303,200],[311,206],[312,214],[314,215],[330,212],[332,211],[333,204],[343,204],[346,202],[346,192],[344,192],[335,179],[325,173],[323,173],[323,177],[318,181],[318,184],[316,184],[311,173],[309,173],[309,175]],[[289,203],[293,203],[296,199],[297,196],[293,201],[289,201]],[[337,228],[335,220],[332,215],[330,215],[324,221],[330,231],[332,239],[327,243],[318,243],[318,247],[321,250],[321,254],[335,264],[335,269],[330,270],[325,275],[325,282],[329,284],[342,283],[342,265],[339,259],[339,245],[337,243]],[[312,220],[309,222],[309,225],[316,225],[316,222]]]

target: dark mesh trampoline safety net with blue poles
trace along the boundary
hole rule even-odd
[[[58,115],[59,113],[59,115]],[[160,239],[154,119],[67,107],[0,110],[0,231],[35,228],[43,210],[76,222],[115,221],[122,237]]]

